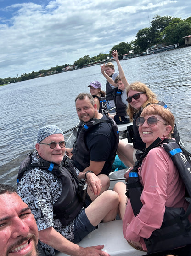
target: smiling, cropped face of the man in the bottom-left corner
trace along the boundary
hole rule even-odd
[[[38,228],[17,193],[0,195],[0,255],[37,256]]]

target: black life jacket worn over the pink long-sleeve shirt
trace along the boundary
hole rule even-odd
[[[165,139],[162,141],[158,138],[144,150],[140,160],[136,162],[133,170],[129,172],[129,179],[127,183],[128,191],[126,195],[129,196],[135,216],[139,214],[140,209],[142,208],[140,196],[143,187],[140,183],[138,170],[148,152],[154,147],[158,147],[162,144],[178,169],[180,177],[185,184],[186,192],[188,193],[185,196],[191,197],[191,161],[189,156],[186,155],[185,150],[174,140]],[[190,214],[191,202],[186,212],[183,208],[166,207],[161,228],[152,232],[150,238],[144,238],[148,253],[172,250],[177,247],[191,244],[191,224],[188,220],[188,216]]]

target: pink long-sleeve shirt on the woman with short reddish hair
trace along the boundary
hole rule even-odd
[[[135,217],[128,200],[123,233],[124,238],[140,242],[143,250],[147,250],[143,238],[149,238],[155,229],[161,227],[165,206],[183,207],[186,210],[188,203],[184,197],[183,181],[163,146],[149,151],[140,167],[139,177],[143,185],[140,197],[143,206]]]

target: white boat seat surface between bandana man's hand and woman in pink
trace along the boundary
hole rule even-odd
[[[136,250],[128,244],[123,236],[122,220],[100,223],[98,229],[91,232],[78,244],[82,247],[104,244],[102,250],[111,256],[147,255],[146,252]],[[59,252],[56,256],[67,256],[67,254]]]

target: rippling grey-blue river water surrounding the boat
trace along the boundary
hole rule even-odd
[[[191,47],[121,61],[129,83],[146,83],[169,106],[189,150],[190,63]],[[66,131],[77,124],[74,99],[80,92],[88,92],[93,80],[100,81],[105,89],[99,65],[0,87],[1,183],[16,185],[18,167],[35,148],[39,127],[58,125]]]

